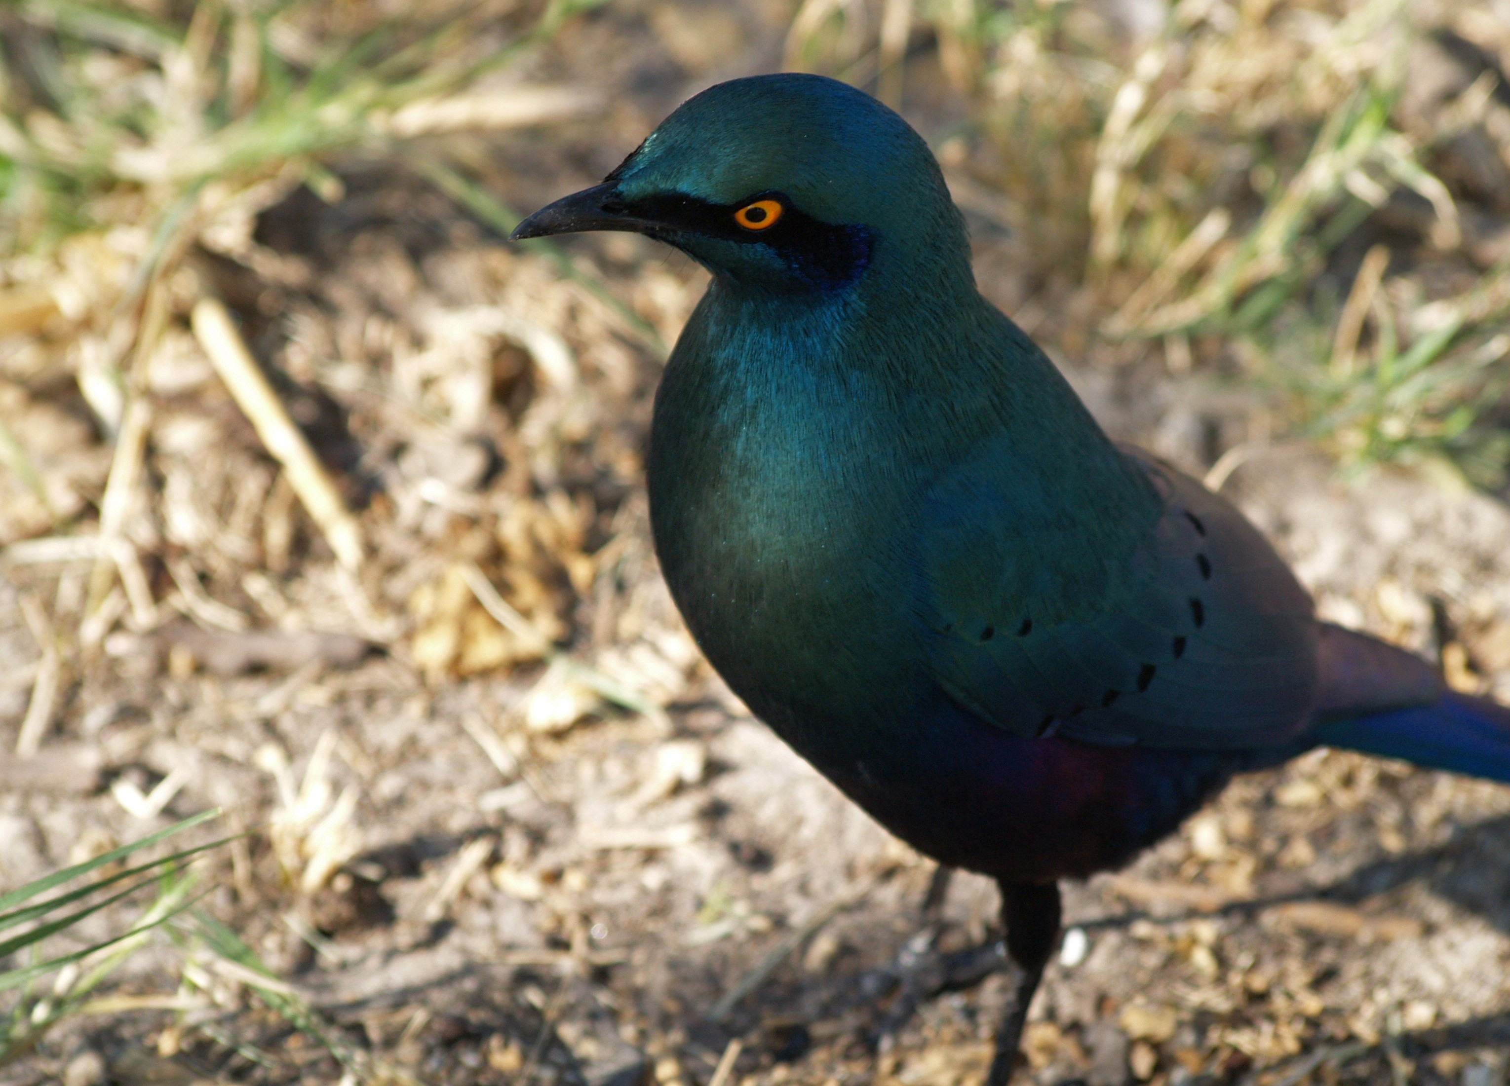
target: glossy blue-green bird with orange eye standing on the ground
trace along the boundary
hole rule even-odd
[[[1510,781],[1510,709],[1321,621],[1222,495],[1113,442],[977,290],[895,112],[811,74],[675,109],[515,240],[633,231],[708,287],[655,392],[646,487],[701,652],[945,869],[995,879],[1004,1086],[1063,879],[1317,747]]]

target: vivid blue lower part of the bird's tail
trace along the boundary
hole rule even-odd
[[[1510,783],[1510,709],[1456,691],[1428,706],[1326,721],[1306,738],[1318,747]]]

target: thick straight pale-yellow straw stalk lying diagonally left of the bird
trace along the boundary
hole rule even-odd
[[[225,305],[219,299],[201,299],[190,323],[214,371],[257,430],[263,446],[282,465],[293,492],[331,545],[337,561],[347,569],[358,569],[362,564],[362,537],[356,517],[346,508],[310,442],[258,370]]]

